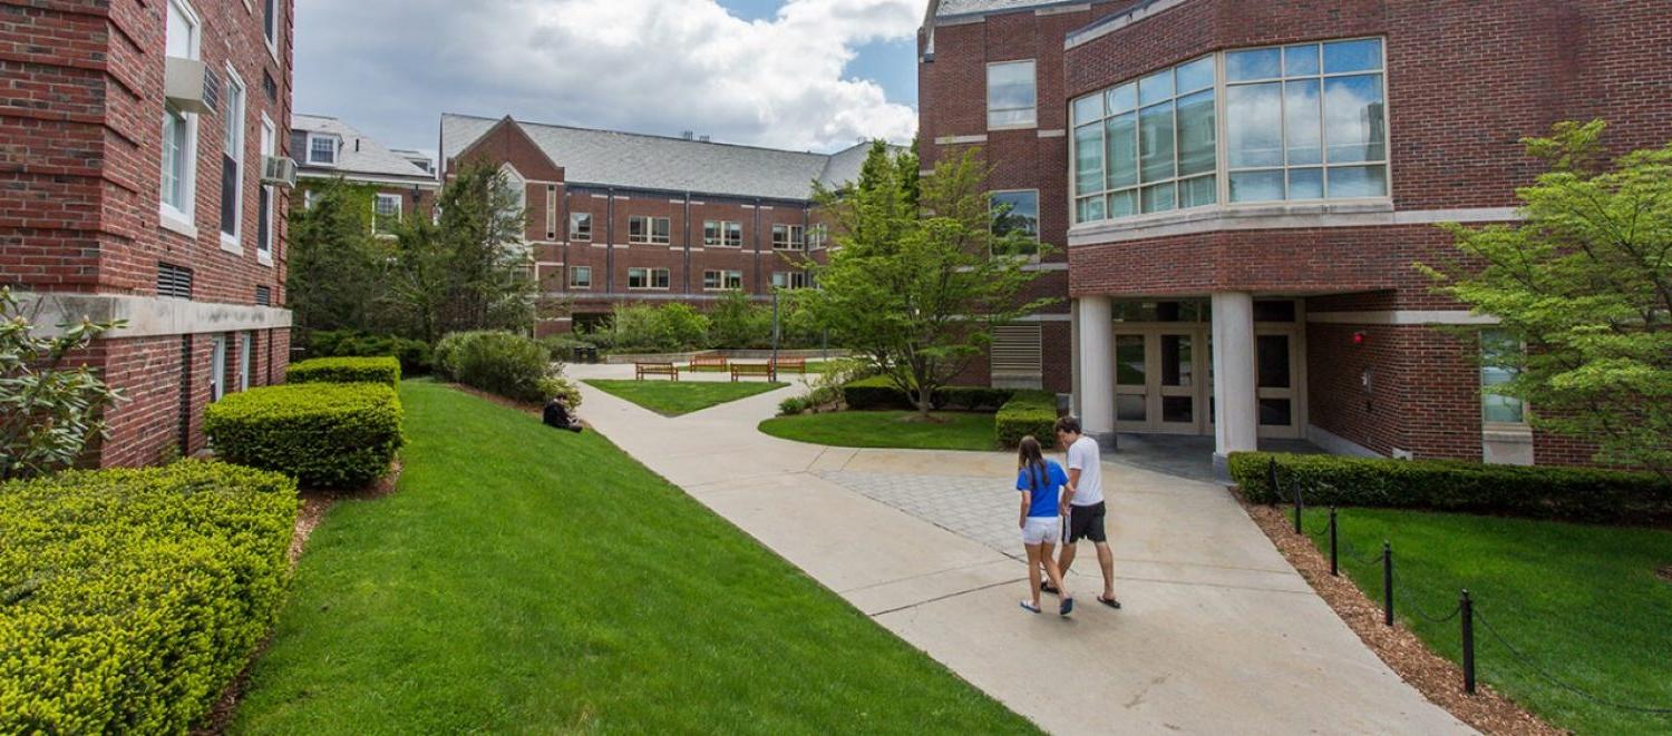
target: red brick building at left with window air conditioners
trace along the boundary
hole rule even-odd
[[[204,406],[284,379],[291,8],[0,0],[0,284],[127,320],[87,355],[127,396],[99,464],[196,452]]]

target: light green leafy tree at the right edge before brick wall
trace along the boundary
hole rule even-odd
[[[1491,392],[1598,442],[1600,462],[1672,479],[1672,144],[1610,164],[1603,129],[1525,140],[1550,170],[1518,190],[1522,222],[1448,225],[1463,257],[1418,269],[1527,345]]]

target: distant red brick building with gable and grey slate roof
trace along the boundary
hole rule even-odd
[[[572,304],[537,327],[545,335],[617,304],[706,309],[727,290],[811,285],[798,264],[826,247],[813,182],[858,179],[868,144],[826,155],[443,115],[440,150],[441,180],[488,162],[523,190],[540,290]]]

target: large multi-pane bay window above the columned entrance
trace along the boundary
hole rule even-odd
[[[1234,48],[1075,98],[1073,220],[1386,199],[1383,47]]]

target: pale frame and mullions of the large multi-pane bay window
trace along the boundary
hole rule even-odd
[[[1383,152],[1386,155],[1386,160],[1383,160],[1383,162],[1366,162],[1363,165],[1383,165],[1388,170],[1388,182],[1386,182],[1388,184],[1388,194],[1381,195],[1381,197],[1354,197],[1354,199],[1328,199],[1326,197],[1326,199],[1299,199],[1299,200],[1281,199],[1281,200],[1261,200],[1261,202],[1231,202],[1231,165],[1229,165],[1229,155],[1231,154],[1229,154],[1229,149],[1226,147],[1226,140],[1227,140],[1226,132],[1227,132],[1227,124],[1229,124],[1229,120],[1226,120],[1226,103],[1227,103],[1226,88],[1231,87],[1232,83],[1226,82],[1226,55],[1232,53],[1232,52],[1251,52],[1251,50],[1261,50],[1261,48],[1284,48],[1284,47],[1309,45],[1309,43],[1319,45],[1319,52],[1321,52],[1324,43],[1353,42],[1353,40],[1378,40],[1378,42],[1381,42],[1381,68],[1378,72],[1338,72],[1338,73],[1329,73],[1329,75],[1323,73],[1323,70],[1319,68],[1319,75],[1318,77],[1319,78],[1326,78],[1326,77],[1361,75],[1361,73],[1379,73],[1381,75],[1381,100],[1383,100],[1383,117],[1384,117],[1383,118],[1383,127],[1381,127],[1381,135],[1383,135]],[[1366,35],[1366,37],[1351,37],[1351,38],[1299,40],[1299,42],[1294,42],[1294,43],[1276,43],[1276,45],[1271,45],[1271,43],[1266,43],[1266,45],[1251,45],[1251,47],[1224,48],[1224,50],[1219,50],[1219,52],[1212,52],[1211,57],[1214,58],[1214,174],[1212,175],[1216,177],[1214,189],[1216,189],[1217,202],[1211,204],[1211,205],[1197,205],[1197,207],[1189,207],[1189,209],[1174,207],[1170,210],[1162,210],[1162,212],[1139,212],[1139,214],[1124,215],[1124,217],[1109,217],[1107,210],[1105,210],[1105,217],[1100,219],[1100,220],[1085,220],[1085,222],[1080,220],[1080,207],[1078,207],[1080,205],[1080,199],[1085,199],[1085,197],[1107,197],[1110,192],[1109,192],[1109,189],[1102,189],[1100,187],[1099,194],[1088,194],[1088,195],[1082,197],[1078,194],[1078,189],[1075,187],[1075,177],[1078,175],[1078,172],[1075,169],[1075,162],[1077,162],[1077,155],[1078,155],[1078,150],[1077,150],[1078,149],[1078,140],[1075,139],[1073,132],[1077,129],[1080,129],[1082,125],[1085,125],[1085,124],[1077,124],[1073,120],[1073,103],[1077,100],[1080,100],[1080,98],[1085,98],[1085,97],[1104,95],[1104,93],[1107,93],[1109,90],[1112,90],[1115,87],[1122,87],[1122,85],[1125,85],[1129,82],[1137,82],[1139,78],[1145,77],[1145,75],[1139,75],[1139,77],[1132,77],[1132,78],[1122,80],[1119,83],[1099,87],[1095,92],[1090,92],[1090,93],[1085,93],[1085,95],[1078,95],[1078,97],[1073,97],[1073,98],[1068,100],[1068,127],[1067,127],[1067,130],[1068,130],[1068,134],[1067,134],[1067,137],[1068,137],[1068,190],[1067,192],[1068,192],[1068,230],[1070,232],[1075,232],[1075,230],[1080,230],[1080,229],[1085,229],[1085,227],[1104,227],[1104,225],[1110,225],[1110,224],[1120,225],[1120,227],[1142,227],[1147,222],[1157,222],[1157,220],[1159,222],[1170,222],[1180,212],[1259,212],[1259,210],[1272,210],[1274,207],[1343,209],[1343,207],[1354,207],[1354,205],[1388,205],[1388,204],[1393,202],[1393,185],[1394,185],[1394,179],[1396,177],[1394,177],[1394,165],[1393,165],[1393,103],[1388,98],[1388,90],[1393,87],[1391,82],[1389,82],[1391,70],[1388,68],[1388,37],[1384,37],[1384,35]],[[1190,63],[1190,62],[1199,60],[1199,58],[1202,58],[1202,57],[1187,58],[1184,62],[1172,63],[1167,68],[1172,70],[1172,68],[1177,68],[1180,65]],[[1321,63],[1323,63],[1323,58],[1319,58],[1319,65]],[[1286,78],[1286,77],[1279,77],[1279,78]],[[1254,83],[1254,82],[1237,82],[1237,83]],[[1286,103],[1284,97],[1286,95],[1279,95],[1279,103]],[[1142,107],[1144,105],[1139,105],[1139,110],[1142,110]],[[1099,124],[1102,124],[1102,120],[1107,120],[1107,118],[1109,118],[1109,115],[1100,117]],[[1286,115],[1279,113],[1279,118],[1282,120],[1282,125],[1287,125]],[[1279,134],[1279,137],[1282,137],[1284,142],[1287,142],[1286,135]],[[1099,137],[1099,140],[1102,142],[1102,137]],[[1328,147],[1328,142],[1324,142],[1323,145]],[[1100,149],[1102,150],[1099,152],[1099,159],[1104,159],[1102,172],[1104,172],[1104,177],[1107,177],[1109,175],[1109,160],[1107,160],[1109,147],[1107,147],[1107,144],[1102,144]],[[1174,145],[1172,155],[1174,155],[1174,164],[1177,165],[1177,157],[1179,157],[1177,144]],[[1309,169],[1309,167],[1313,167],[1313,165],[1306,164],[1306,165],[1299,165],[1297,169]],[[1321,164],[1318,164],[1318,167],[1328,167],[1328,165],[1321,162]],[[1289,170],[1287,164],[1284,164],[1282,167],[1244,167],[1244,169],[1237,169],[1237,170],[1266,170],[1266,169],[1281,169],[1282,172]],[[1328,174],[1326,174],[1326,180],[1328,180]],[[1174,182],[1177,182],[1177,177],[1174,177]],[[1144,184],[1140,182],[1135,189],[1142,190]],[[1326,184],[1324,194],[1328,195],[1328,184]],[[1140,209],[1142,209],[1142,202],[1140,202]]]

